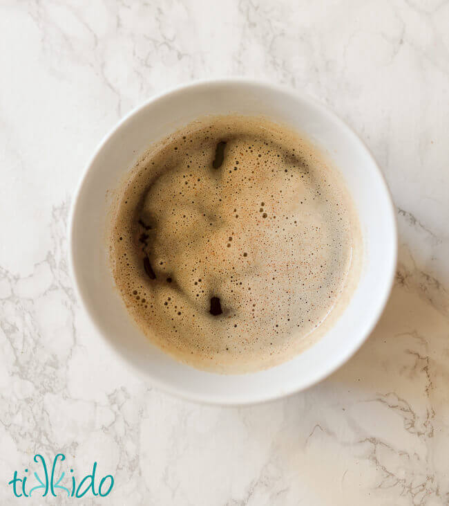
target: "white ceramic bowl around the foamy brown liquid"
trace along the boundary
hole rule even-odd
[[[113,287],[105,242],[108,201],[124,173],[153,141],[206,114],[263,115],[304,132],[341,171],[363,233],[363,271],[336,325],[291,361],[249,374],[203,372],[152,345]],[[356,352],[388,300],[397,262],[394,207],[385,180],[359,137],[329,109],[301,93],[242,79],[195,82],[151,98],[100,143],[79,184],[70,217],[70,268],[98,333],[153,385],[216,404],[250,404],[303,390]]]

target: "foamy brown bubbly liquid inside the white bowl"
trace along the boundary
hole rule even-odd
[[[260,370],[338,317],[361,238],[338,172],[295,132],[211,116],[150,148],[117,190],[111,265],[151,341],[196,368]]]

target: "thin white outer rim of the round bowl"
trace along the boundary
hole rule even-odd
[[[223,87],[229,84],[242,84],[244,86],[249,87],[258,87],[261,89],[265,89],[267,91],[273,91],[275,93],[283,93],[289,96],[289,98],[292,98],[294,100],[295,99],[298,100],[299,98],[303,102],[308,102],[309,105],[312,105],[315,109],[318,109],[318,111],[321,114],[323,114],[323,116],[328,116],[329,118],[331,118],[334,121],[334,123],[336,123],[336,125],[338,126],[338,129],[340,129],[347,136],[352,138],[352,141],[354,141],[354,143],[356,144],[358,143],[365,152],[365,154],[367,155],[367,157],[370,159],[370,162],[372,163],[372,169],[374,170],[374,172],[376,172],[376,176],[379,179],[381,191],[383,191],[385,194],[386,199],[384,208],[385,212],[390,215],[389,220],[392,237],[394,239],[392,240],[391,243],[389,272],[385,273],[385,280],[388,280],[388,282],[385,283],[385,291],[383,293],[383,296],[379,298],[379,300],[377,301],[377,307],[373,312],[374,316],[372,316],[372,320],[365,326],[363,332],[361,332],[359,341],[357,341],[351,347],[348,347],[347,350],[345,350],[345,352],[343,352],[338,357],[338,359],[336,359],[336,361],[329,362],[328,365],[325,368],[323,368],[321,373],[316,374],[309,381],[305,381],[299,386],[295,383],[292,383],[286,386],[286,388],[279,390],[277,393],[264,395],[263,392],[260,392],[260,395],[257,396],[252,395],[251,398],[238,397],[238,399],[232,399],[231,398],[232,395],[227,394],[224,395],[222,393],[211,395],[197,391],[193,394],[190,390],[183,389],[181,383],[176,387],[171,386],[165,383],[163,380],[160,380],[158,377],[153,376],[151,374],[151,371],[144,373],[135,363],[133,363],[130,357],[122,354],[122,352],[120,352],[120,350],[117,349],[117,346],[114,345],[111,342],[111,340],[108,339],[108,337],[104,334],[102,325],[97,321],[97,317],[95,316],[95,314],[93,314],[93,311],[90,309],[89,305],[84,300],[82,289],[79,286],[77,271],[75,269],[74,237],[73,237],[75,216],[77,215],[77,208],[79,204],[79,195],[81,195],[82,190],[86,184],[88,173],[90,172],[95,161],[97,160],[97,157],[101,154],[105,145],[108,143],[108,141],[110,141],[111,137],[113,137],[113,135],[118,130],[122,129],[122,127],[124,127],[126,123],[128,123],[133,118],[133,116],[135,116],[135,114],[138,114],[143,109],[146,109],[146,107],[150,107],[154,102],[157,102],[157,100],[160,100],[161,98],[169,98],[170,96],[174,96],[177,93],[182,93],[186,89],[192,89],[195,87],[209,87],[209,86]],[[108,347],[111,350],[113,350],[113,352],[117,356],[120,356],[120,358],[125,363],[128,363],[128,365],[131,366],[132,370],[134,370],[142,379],[146,379],[146,381],[149,381],[151,385],[155,386],[158,390],[162,390],[171,395],[175,395],[175,397],[180,397],[182,399],[187,399],[189,401],[195,401],[200,402],[202,404],[210,404],[210,405],[246,406],[251,404],[261,404],[264,402],[273,401],[275,399],[288,397],[289,395],[293,395],[296,392],[306,390],[307,388],[310,388],[314,386],[316,383],[319,383],[320,381],[323,381],[323,379],[329,377],[330,374],[338,370],[338,368],[340,368],[345,362],[347,362],[360,349],[361,345],[365,343],[367,338],[372,333],[374,327],[379,322],[379,318],[383,313],[383,309],[385,309],[385,305],[387,304],[388,299],[390,298],[390,293],[392,291],[392,287],[394,284],[394,277],[397,269],[398,235],[397,235],[397,216],[395,212],[395,207],[392,200],[390,188],[388,188],[385,176],[381,171],[381,169],[379,168],[379,164],[376,162],[376,159],[374,159],[374,156],[370,148],[367,147],[367,145],[361,139],[361,137],[358,134],[356,134],[354,129],[352,129],[352,127],[350,127],[350,125],[348,125],[345,120],[343,120],[340,116],[338,116],[338,114],[336,114],[332,109],[327,107],[327,105],[323,105],[322,102],[320,102],[313,96],[310,96],[308,93],[298,91],[296,89],[293,89],[292,87],[287,87],[284,84],[276,84],[265,80],[258,80],[245,77],[201,79],[178,84],[177,86],[170,87],[169,89],[166,89],[164,91],[160,91],[159,93],[156,93],[155,95],[151,96],[151,98],[144,100],[144,102],[131,109],[131,111],[129,111],[128,114],[126,114],[121,120],[115,123],[115,125],[113,125],[111,129],[109,129],[106,135],[104,135],[102,140],[99,142],[93,154],[90,156],[88,162],[84,166],[84,170],[82,170],[81,177],[79,178],[77,187],[75,188],[75,192],[73,193],[72,201],[70,203],[67,234],[68,234],[68,270],[70,273],[70,278],[73,282],[73,289],[75,291],[75,296],[77,300],[79,300],[82,310],[84,310],[85,313],[87,314],[90,324],[93,325],[93,327],[95,328],[96,333],[99,334],[99,336],[101,336],[102,340],[107,343]],[[257,374],[257,372],[249,372],[247,374]]]

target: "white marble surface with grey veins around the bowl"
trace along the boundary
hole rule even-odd
[[[1,504],[50,500],[6,483],[57,451],[113,473],[103,504],[449,503],[448,26],[441,0],[0,2]],[[136,379],[95,336],[66,261],[70,199],[102,136],[152,93],[222,75],[343,116],[383,168],[401,243],[361,351],[248,408]]]

